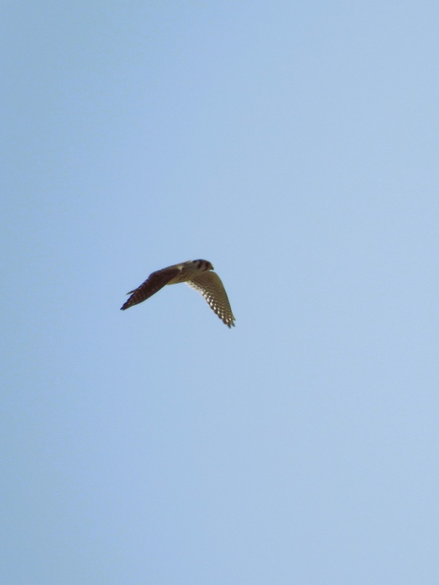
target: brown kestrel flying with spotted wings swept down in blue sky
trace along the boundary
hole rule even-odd
[[[131,297],[122,305],[121,311],[146,301],[167,284],[186,283],[201,292],[212,311],[228,328],[231,328],[232,325],[235,326],[235,317],[218,274],[211,272],[213,269],[214,267],[207,260],[188,260],[156,270],[138,288],[127,293],[131,294]]]

